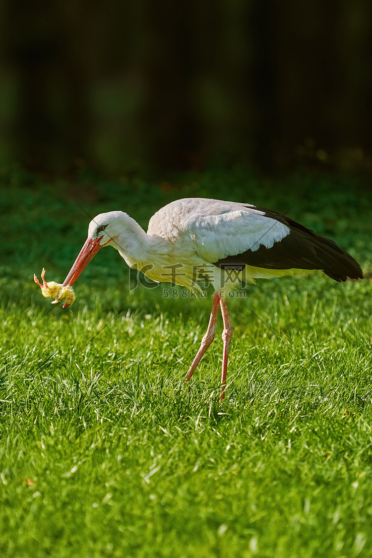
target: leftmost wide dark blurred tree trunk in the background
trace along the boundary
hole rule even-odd
[[[68,4],[67,13],[47,0],[7,4],[4,41],[18,83],[13,143],[18,161],[33,171],[66,173],[91,162],[90,84],[80,52],[68,40],[80,23],[74,19],[80,19],[81,4],[72,17]]]

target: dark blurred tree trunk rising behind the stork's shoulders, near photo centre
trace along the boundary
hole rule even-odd
[[[161,169],[189,168],[199,156],[200,130],[192,105],[196,2],[145,2],[151,35],[147,37],[143,126],[151,158]]]

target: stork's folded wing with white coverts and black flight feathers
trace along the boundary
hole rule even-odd
[[[190,225],[196,252],[218,267],[321,270],[335,281],[362,278],[359,263],[329,238],[263,208],[202,217]]]

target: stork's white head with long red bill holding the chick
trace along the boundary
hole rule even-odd
[[[71,267],[71,270],[63,286],[73,285],[80,273],[85,269],[90,260],[95,256],[100,248],[104,246],[118,247],[115,241],[119,235],[123,234],[125,223],[131,218],[123,211],[109,211],[109,213],[100,213],[89,223],[88,238],[85,240],[83,248],[81,248],[79,256]]]

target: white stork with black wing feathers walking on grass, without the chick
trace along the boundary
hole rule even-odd
[[[202,278],[212,283],[215,295],[209,325],[186,382],[214,339],[220,306],[224,322],[220,401],[233,335],[226,297],[240,284],[237,278],[253,283],[257,277],[283,277],[299,270],[322,270],[335,281],[363,278],[359,264],[333,240],[274,211],[232,201],[173,201],[153,215],[147,233],[123,211],[97,215],[63,286],[73,285],[104,246],[116,248],[128,266],[154,281],[190,290],[200,290],[197,281]],[[66,300],[64,307],[70,304]]]

